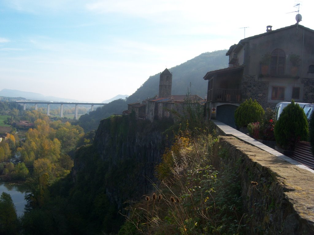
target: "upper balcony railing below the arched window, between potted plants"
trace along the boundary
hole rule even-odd
[[[262,65],[260,66],[260,74],[263,76],[278,77],[298,77],[300,76],[300,66],[291,64],[284,65]]]

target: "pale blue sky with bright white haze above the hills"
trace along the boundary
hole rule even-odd
[[[298,3],[314,29],[313,0],[0,0],[0,90],[131,95],[165,68],[295,24]]]

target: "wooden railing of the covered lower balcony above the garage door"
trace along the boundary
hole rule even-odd
[[[209,100],[211,102],[241,102],[241,90],[236,89],[210,89]]]

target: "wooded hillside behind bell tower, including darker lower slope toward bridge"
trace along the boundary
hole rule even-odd
[[[181,65],[170,69],[168,68],[172,73],[171,93],[174,95],[184,95],[187,94],[189,89],[190,93],[197,94],[204,98],[206,96],[207,81],[204,81],[203,77],[208,71],[228,67],[226,52],[227,50],[205,52]],[[165,70],[165,68],[160,68],[160,72],[163,70]],[[102,108],[82,115],[79,118],[79,125],[84,128],[85,132],[95,130],[100,120],[114,113],[121,114],[123,110],[127,109],[128,103],[142,102],[144,99],[147,99],[147,97],[151,98],[158,95],[159,76],[159,73],[150,76],[149,79],[126,100],[119,99],[112,101]]]

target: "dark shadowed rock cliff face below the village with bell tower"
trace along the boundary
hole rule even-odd
[[[132,116],[102,120],[94,143],[78,151],[73,180],[76,184],[85,181],[95,185],[89,191],[102,191],[122,209],[125,201],[152,190],[154,169],[165,149],[161,133],[171,124],[168,121],[156,125]]]

